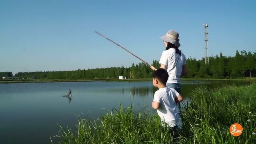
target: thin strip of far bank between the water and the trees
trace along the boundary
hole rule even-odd
[[[43,83],[43,82],[143,82],[151,81],[152,78],[143,79],[42,79],[42,80],[0,80],[0,84],[12,84],[12,83]],[[181,78],[181,80],[256,80],[256,78],[235,78],[235,79],[216,79],[216,78]]]

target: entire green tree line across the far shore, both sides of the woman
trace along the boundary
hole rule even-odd
[[[188,73],[183,78],[242,78],[256,77],[256,51],[240,53],[236,55],[223,56],[222,53],[216,56],[210,56],[209,63],[205,64],[204,58],[187,59]],[[160,67],[157,60],[152,65]],[[10,76],[11,72],[0,72],[0,76]],[[151,78],[152,70],[144,63],[132,64],[129,68],[111,67],[111,68],[94,68],[73,71],[55,71],[55,72],[18,72],[15,74],[19,79],[31,78],[36,79],[116,79],[118,76],[126,78]]]

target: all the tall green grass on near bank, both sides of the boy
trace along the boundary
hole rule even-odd
[[[107,111],[97,120],[78,117],[75,130],[60,126],[60,144],[169,144],[172,135],[163,129],[157,114],[134,108]],[[249,112],[252,112],[249,114]],[[256,84],[226,86],[218,90],[199,87],[182,110],[183,129],[176,143],[253,144],[256,142]],[[247,120],[250,119],[250,122]],[[229,132],[233,123],[243,126],[241,136]]]

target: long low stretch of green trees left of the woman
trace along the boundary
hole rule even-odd
[[[156,61],[153,62],[154,66],[158,66]],[[56,72],[18,72],[15,74],[19,78],[31,78],[34,76],[36,79],[92,79],[92,78],[118,78],[124,76],[126,78],[151,78],[152,70],[146,64],[132,64],[129,68],[123,66],[117,68],[95,68],[88,70],[74,70],[74,71],[56,71]]]

